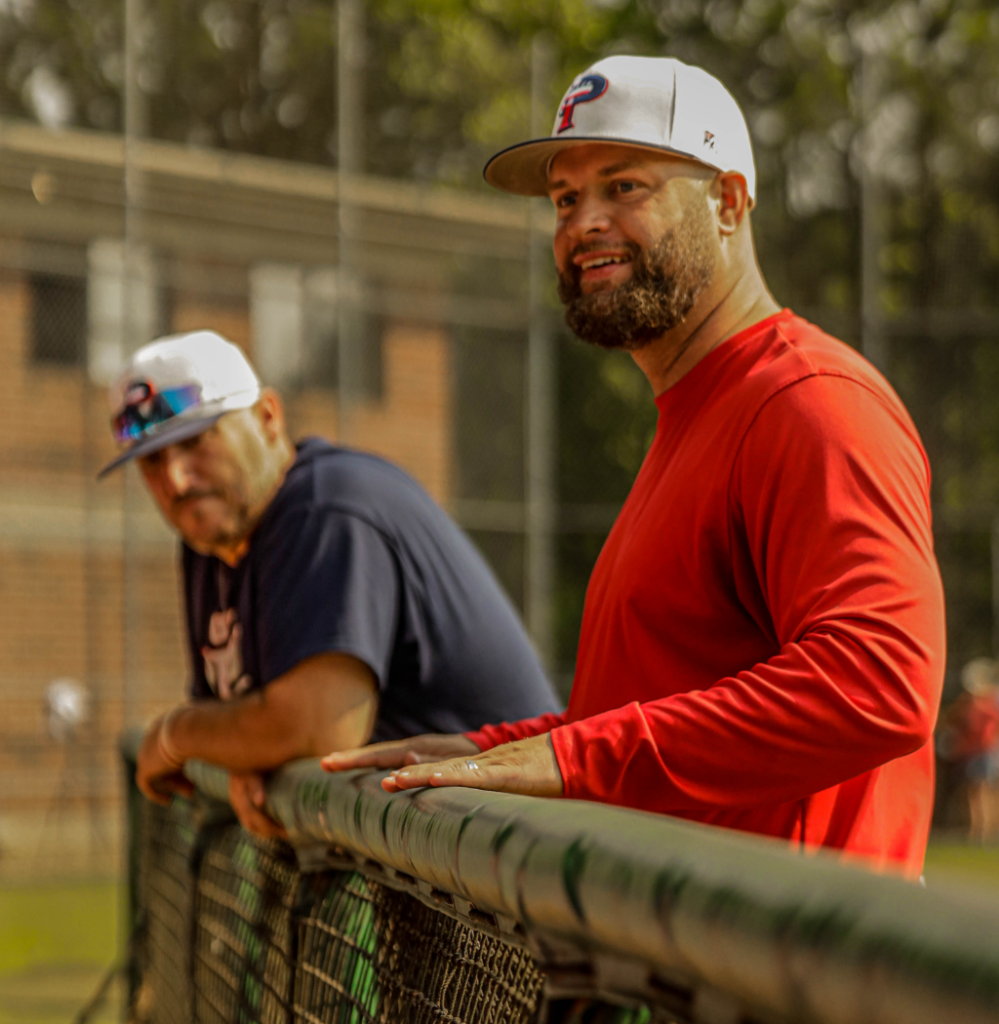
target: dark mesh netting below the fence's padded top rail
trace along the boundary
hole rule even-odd
[[[662,1010],[546,1000],[531,953],[225,814],[133,800],[132,1024],[669,1024]]]

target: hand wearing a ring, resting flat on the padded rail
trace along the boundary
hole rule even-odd
[[[526,797],[561,797],[565,792],[550,733],[503,743],[474,757],[466,752],[448,761],[398,768],[382,779],[387,793],[422,785],[464,785]]]

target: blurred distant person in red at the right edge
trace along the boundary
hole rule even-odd
[[[976,657],[961,670],[961,692],[941,720],[938,752],[960,771],[968,839],[999,834],[999,663]]]

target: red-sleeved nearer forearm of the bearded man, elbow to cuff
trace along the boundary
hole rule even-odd
[[[907,666],[819,635],[705,690],[555,729],[566,796],[664,813],[802,799],[926,741],[942,667]]]

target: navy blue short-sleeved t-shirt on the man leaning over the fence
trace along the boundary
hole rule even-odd
[[[558,710],[481,556],[406,473],[318,438],[233,569],[183,548],[191,695],[266,686],[324,651],[378,680],[373,741]]]

